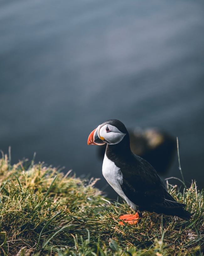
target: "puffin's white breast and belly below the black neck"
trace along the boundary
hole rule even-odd
[[[103,160],[102,173],[110,186],[120,195],[127,203],[130,205],[135,211],[137,210],[137,206],[131,202],[124,192],[121,189],[122,184],[122,173],[120,168],[118,168],[114,162],[107,158],[106,154]]]

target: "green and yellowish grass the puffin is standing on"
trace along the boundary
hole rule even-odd
[[[191,221],[145,212],[140,224],[121,226],[132,213],[123,201],[109,201],[96,179],[76,178],[43,163],[0,159],[1,255],[203,255],[204,194],[193,182],[171,195],[187,204]]]

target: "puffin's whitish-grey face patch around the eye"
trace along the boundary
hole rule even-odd
[[[118,128],[109,124],[105,124],[98,129],[98,137],[107,144],[117,144],[121,142],[125,135]]]

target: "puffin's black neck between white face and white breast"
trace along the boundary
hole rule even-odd
[[[131,155],[129,134],[127,133],[121,142],[117,144],[107,144],[105,154],[110,160],[123,159]]]

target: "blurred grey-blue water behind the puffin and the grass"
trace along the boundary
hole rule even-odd
[[[204,2],[1,0],[0,149],[102,176],[91,131],[107,119],[179,138],[204,187]],[[161,177],[181,178],[176,152]],[[169,180],[169,183],[179,181]],[[189,182],[189,183],[188,183]]]

